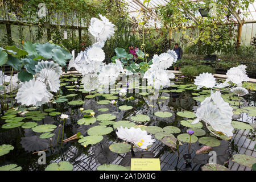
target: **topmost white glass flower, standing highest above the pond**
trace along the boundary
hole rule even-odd
[[[108,38],[114,35],[114,24],[109,22],[105,16],[99,14],[100,19],[90,19],[89,32],[96,38],[96,42],[105,42]]]

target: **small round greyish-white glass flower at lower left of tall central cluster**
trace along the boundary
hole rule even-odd
[[[84,90],[88,92],[96,90],[100,86],[98,77],[94,74],[88,74],[82,77],[82,83],[84,84]]]

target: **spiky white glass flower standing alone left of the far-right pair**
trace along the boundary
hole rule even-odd
[[[211,73],[200,73],[200,75],[195,79],[195,85],[197,85],[197,89],[200,89],[204,86],[206,88],[213,88],[215,84],[215,78]]]

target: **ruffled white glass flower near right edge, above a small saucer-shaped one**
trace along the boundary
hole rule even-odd
[[[225,82],[233,82],[237,86],[242,86],[243,81],[249,81],[249,77],[246,75],[246,65],[239,65],[238,67],[233,67],[226,72],[228,78]]]

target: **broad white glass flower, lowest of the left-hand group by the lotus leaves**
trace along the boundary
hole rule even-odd
[[[22,105],[40,106],[51,100],[52,94],[47,92],[46,85],[39,80],[30,80],[25,82],[15,97],[17,102]]]

